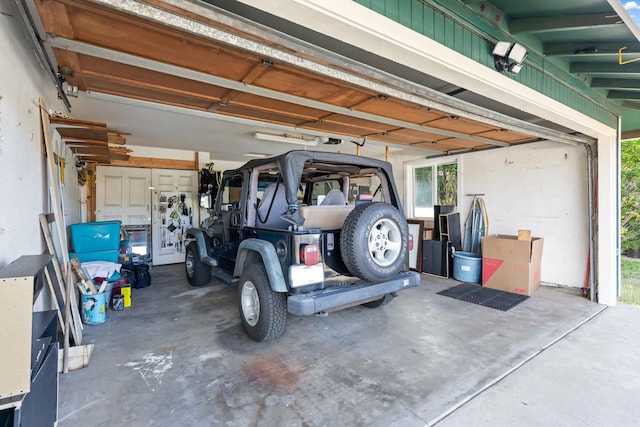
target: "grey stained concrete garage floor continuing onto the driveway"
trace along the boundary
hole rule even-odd
[[[85,326],[59,426],[636,425],[640,308],[542,288],[507,312],[422,285],[379,309],[289,316],[255,343],[236,288],[154,267],[132,307]]]

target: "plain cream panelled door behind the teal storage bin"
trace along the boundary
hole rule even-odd
[[[96,221],[120,220],[123,225],[151,223],[151,170],[98,166]]]

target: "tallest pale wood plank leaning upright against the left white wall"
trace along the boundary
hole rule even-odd
[[[60,240],[60,251],[62,252],[63,264],[69,262],[69,251],[67,249],[67,230],[64,227],[64,216],[62,214],[62,195],[60,194],[60,180],[58,166],[55,162],[55,153],[53,151],[53,142],[51,141],[51,123],[49,122],[49,114],[40,99],[40,119],[42,121],[42,133],[44,135],[44,146],[47,153],[47,174],[49,177],[49,193],[53,203],[53,215],[58,230],[58,238]]]

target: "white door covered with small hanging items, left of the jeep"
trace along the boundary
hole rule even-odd
[[[198,172],[152,169],[153,265],[184,262],[184,232],[198,224]]]

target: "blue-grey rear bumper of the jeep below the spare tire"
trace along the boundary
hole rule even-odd
[[[323,311],[348,307],[372,298],[413,288],[420,284],[420,274],[407,271],[382,283],[360,281],[353,285],[291,295],[287,299],[288,311],[297,316],[310,316]]]

